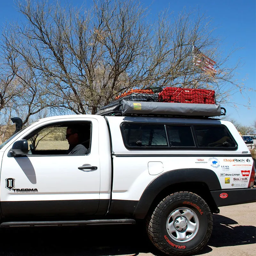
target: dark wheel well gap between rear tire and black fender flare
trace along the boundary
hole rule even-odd
[[[188,191],[197,194],[202,197],[204,201],[208,204],[212,213],[219,213],[218,207],[212,198],[210,190],[208,186],[204,182],[183,182],[176,183],[164,188],[154,199],[152,202],[148,212],[153,212],[156,205],[166,196],[180,191]]]

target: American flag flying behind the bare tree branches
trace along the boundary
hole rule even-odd
[[[216,74],[216,69],[213,68],[215,61],[204,55],[198,48],[193,46],[193,61],[194,65],[202,70],[211,73],[213,76]]]

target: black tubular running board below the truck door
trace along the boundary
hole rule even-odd
[[[65,221],[10,221],[3,222],[0,227],[44,227],[44,226],[92,226],[92,225],[116,225],[135,224],[133,219],[116,220],[65,220]]]

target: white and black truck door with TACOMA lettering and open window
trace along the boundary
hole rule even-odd
[[[86,155],[68,155],[65,136],[70,125],[84,127]],[[0,180],[4,217],[59,218],[97,212],[100,194],[97,119],[48,121],[20,139],[28,140],[32,147],[25,156],[13,157],[9,153],[12,146],[4,152]]]

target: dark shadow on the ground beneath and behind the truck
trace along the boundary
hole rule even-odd
[[[234,226],[235,220],[214,214],[208,245],[213,247],[255,243],[254,226]],[[230,226],[233,225],[233,226]],[[105,256],[152,253],[162,256],[139,226],[2,228],[0,255]],[[211,252],[206,246],[198,255]]]

